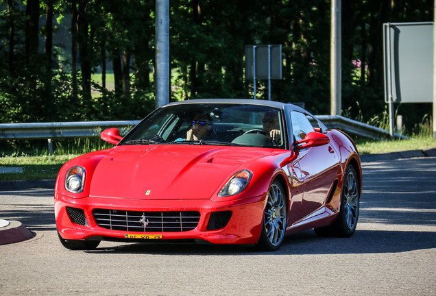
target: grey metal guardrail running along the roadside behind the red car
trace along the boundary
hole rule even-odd
[[[382,130],[366,123],[354,121],[343,116],[318,115],[328,128],[343,130],[348,134],[383,140],[390,138],[386,130]],[[99,136],[100,132],[109,127],[117,127],[121,134],[127,134],[131,127],[139,121],[77,121],[64,123],[0,123],[0,140],[12,139],[53,139],[53,138],[81,138]],[[398,138],[407,138],[395,134]],[[51,142],[51,140],[49,140]]]

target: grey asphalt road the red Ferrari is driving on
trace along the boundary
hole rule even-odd
[[[238,246],[58,242],[53,190],[0,191],[0,218],[36,237],[0,246],[0,295],[436,295],[436,158],[365,162],[352,238]]]

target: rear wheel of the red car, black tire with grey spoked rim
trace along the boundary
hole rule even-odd
[[[350,164],[343,180],[341,207],[332,225],[315,228],[318,236],[350,237],[359,219],[360,184],[356,169]]]

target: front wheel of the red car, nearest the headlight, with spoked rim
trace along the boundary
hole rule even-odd
[[[276,251],[283,243],[287,221],[287,197],[282,184],[274,180],[269,188],[263,213],[261,237],[256,247],[262,251]]]

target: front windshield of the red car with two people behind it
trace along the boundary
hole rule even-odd
[[[284,147],[279,109],[234,103],[191,103],[160,108],[120,145],[199,144]]]

